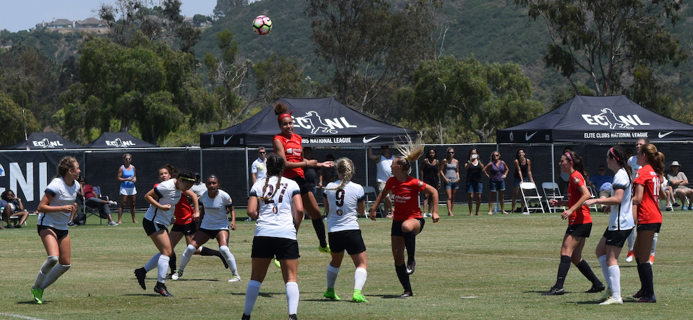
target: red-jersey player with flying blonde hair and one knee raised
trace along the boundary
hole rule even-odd
[[[408,137],[407,137],[408,138]],[[419,140],[421,141],[421,140]],[[394,257],[394,269],[397,272],[399,282],[404,287],[404,293],[400,298],[412,297],[412,285],[409,275],[414,273],[414,252],[416,251],[416,235],[423,230],[426,220],[421,216],[419,208],[419,192],[428,194],[430,202],[438,203],[438,191],[435,187],[426,185],[423,181],[409,176],[412,172],[410,161],[416,161],[423,154],[423,144],[412,142],[401,145],[395,144],[402,156],[397,156],[392,162],[392,177],[385,182],[385,189],[378,195],[376,202],[370,210],[371,220],[376,220],[376,208],[387,194],[392,192],[395,203],[394,216],[392,218],[392,256]],[[438,206],[434,205],[431,218],[437,223]],[[407,264],[404,264],[404,250],[407,250]]]

